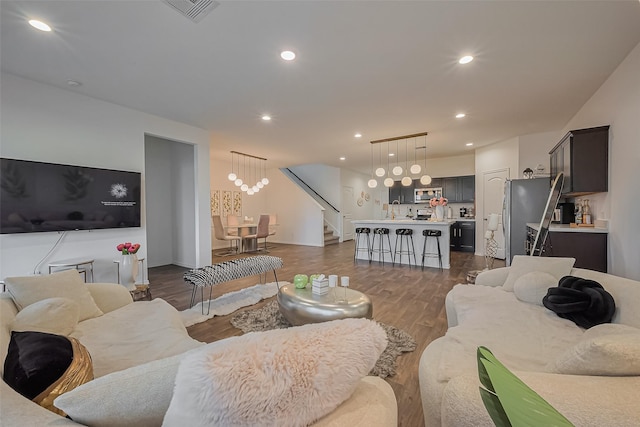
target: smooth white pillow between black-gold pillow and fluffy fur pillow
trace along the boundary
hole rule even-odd
[[[96,378],[61,395],[53,404],[75,422],[92,427],[159,426],[171,402],[180,360],[186,354]]]

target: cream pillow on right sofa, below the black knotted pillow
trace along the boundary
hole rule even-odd
[[[640,329],[602,324],[584,333],[578,344],[547,365],[569,375],[640,375]]]

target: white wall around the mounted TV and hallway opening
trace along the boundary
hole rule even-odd
[[[193,248],[189,257],[195,259],[189,264],[210,263],[206,131],[6,73],[2,73],[0,83],[2,157],[140,171],[144,188],[145,133],[195,144],[197,198],[190,221],[197,232],[185,247]],[[96,280],[115,281],[113,259],[118,256],[118,243],[141,243],[139,255],[146,256],[144,190],[142,196],[142,227],[69,232],[47,259],[91,256],[95,258]],[[58,238],[58,233],[0,236],[0,277],[32,273]],[[46,272],[46,265],[45,260],[40,271]]]

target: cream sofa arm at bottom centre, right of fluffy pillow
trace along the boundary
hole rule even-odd
[[[379,377],[364,377],[351,397],[314,427],[397,427],[398,403],[391,386]]]

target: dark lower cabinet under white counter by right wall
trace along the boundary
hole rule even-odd
[[[536,230],[527,227],[527,248],[533,247],[536,235]],[[542,256],[575,258],[576,268],[606,273],[607,233],[549,231]]]

